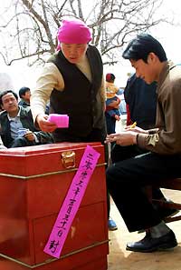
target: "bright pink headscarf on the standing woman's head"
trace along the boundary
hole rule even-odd
[[[59,43],[87,44],[91,40],[90,28],[81,20],[63,20],[57,38]]]

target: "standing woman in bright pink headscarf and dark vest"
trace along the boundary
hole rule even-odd
[[[90,28],[81,20],[64,20],[57,38],[57,53],[44,66],[31,96],[35,125],[52,132],[55,142],[103,144],[106,137],[103,65],[98,49],[89,44]],[[48,121],[44,111],[49,99],[49,113],[69,115],[68,128],[57,128]],[[117,229],[111,219],[109,228]]]

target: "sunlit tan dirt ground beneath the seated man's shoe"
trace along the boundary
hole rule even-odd
[[[181,203],[179,191],[164,190],[164,193],[173,201]],[[126,245],[127,242],[140,240],[145,234],[129,233],[113,202],[110,215],[116,221],[119,229],[109,233],[109,270],[181,270],[181,221],[168,224],[176,234],[178,246],[175,249],[143,254],[126,251]]]

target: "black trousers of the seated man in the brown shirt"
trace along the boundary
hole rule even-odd
[[[115,147],[121,149],[124,146]],[[148,152],[118,161],[107,168],[108,190],[129,232],[147,229],[161,222],[157,210],[149,202],[145,186],[153,185],[157,180],[180,177],[180,165],[181,155]]]

